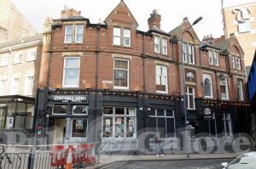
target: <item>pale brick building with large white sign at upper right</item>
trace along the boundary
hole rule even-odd
[[[223,1],[222,14],[224,19],[224,37],[234,34],[244,51],[247,73],[253,62],[253,54],[256,48],[256,1],[246,0],[243,3],[236,3],[236,6]]]

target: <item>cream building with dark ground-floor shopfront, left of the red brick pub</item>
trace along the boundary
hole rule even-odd
[[[32,131],[42,39],[38,34],[0,44],[1,132]]]

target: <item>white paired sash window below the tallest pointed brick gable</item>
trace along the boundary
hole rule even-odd
[[[131,47],[131,30],[113,27],[113,45]]]

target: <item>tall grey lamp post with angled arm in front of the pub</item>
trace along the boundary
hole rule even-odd
[[[196,19],[192,25],[187,27],[185,30],[181,32],[181,57],[182,57],[182,74],[183,74],[183,111],[184,111],[184,121],[185,121],[185,139],[186,139],[186,154],[187,158],[189,158],[189,131],[188,131],[188,115],[187,115],[187,102],[186,102],[186,82],[185,82],[185,70],[184,70],[184,60],[183,60],[183,32],[189,30],[193,25],[197,24],[202,20],[202,17]],[[186,49],[185,49],[186,50]]]

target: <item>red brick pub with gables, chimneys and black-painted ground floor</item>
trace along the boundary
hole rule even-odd
[[[39,84],[57,90],[41,123],[54,128],[54,143],[101,136],[137,149],[146,129],[176,138],[184,127],[182,59],[190,129],[212,136],[248,132],[247,118],[240,118],[248,104],[236,37],[201,42],[187,29],[187,18],[170,32],[160,29],[160,21],[154,10],[148,31],[137,30],[123,1],[104,23],[91,24],[68,8],[61,19],[45,21]]]

